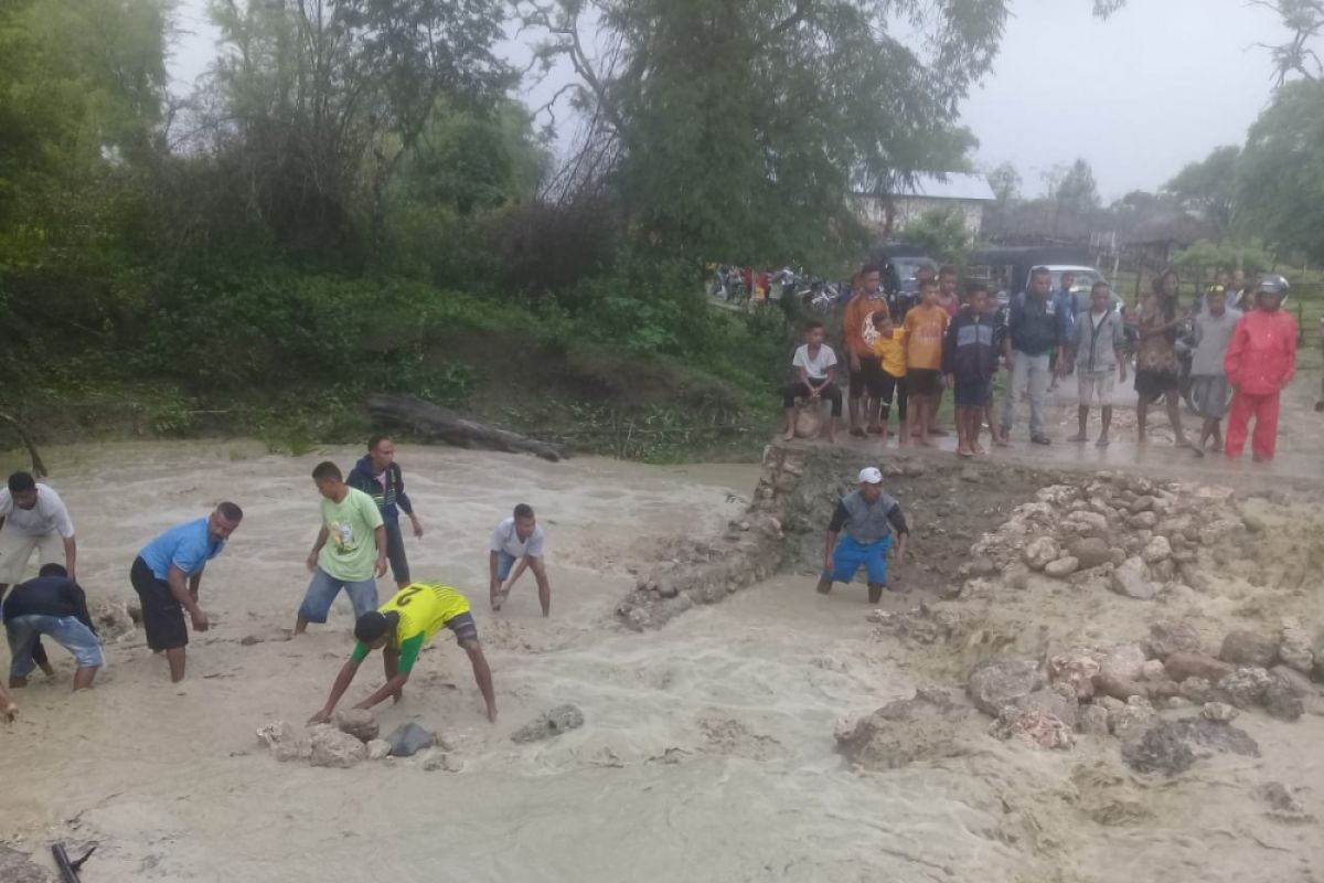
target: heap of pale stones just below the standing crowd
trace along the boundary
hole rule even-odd
[[[1245,532],[1231,491],[1100,473],[1045,487],[1018,506],[974,543],[963,576],[1001,573],[1008,585],[1025,588],[1031,573],[1042,573],[1148,600],[1166,585],[1198,588],[1201,547]]]

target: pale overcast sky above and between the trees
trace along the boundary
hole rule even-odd
[[[171,61],[187,91],[214,53],[204,0],[184,0]],[[1091,0],[1013,0],[993,71],[963,106],[977,162],[1012,162],[1027,195],[1083,156],[1111,201],[1156,189],[1219,144],[1242,143],[1268,101],[1278,17],[1245,0],[1129,0],[1108,21]],[[528,54],[507,48],[523,64]],[[542,103],[555,89],[527,94]]]

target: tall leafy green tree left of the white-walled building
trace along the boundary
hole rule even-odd
[[[522,13],[542,30],[544,64],[575,70],[567,91],[597,134],[588,143],[613,146],[598,172],[637,240],[743,261],[839,252],[861,234],[853,191],[961,168],[973,139],[956,103],[988,70],[1006,9],[548,0]]]

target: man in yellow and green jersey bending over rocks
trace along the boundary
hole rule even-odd
[[[483,694],[487,704],[487,720],[496,720],[496,695],[493,691],[493,673],[487,667],[483,649],[478,643],[478,626],[469,612],[469,598],[450,588],[449,585],[434,585],[426,582],[413,582],[396,592],[396,594],[381,605],[379,610],[369,610],[359,617],[354,625],[354,653],[350,661],[340,667],[335,683],[331,686],[331,695],[322,711],[312,715],[308,723],[323,723],[331,719],[340,696],[354,683],[354,676],[359,674],[359,665],[368,658],[373,650],[381,650],[383,669],[385,669],[387,682],[377,687],[367,699],[355,708],[372,708],[383,703],[388,696],[396,702],[404,699],[404,688],[409,682],[409,674],[424,645],[432,641],[433,635],[441,631],[442,626],[455,633],[455,642],[469,654],[469,663],[474,669],[474,680]]]

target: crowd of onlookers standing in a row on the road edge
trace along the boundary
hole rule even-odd
[[[1296,320],[1282,308],[1287,282],[1262,278],[1254,286],[1241,271],[1221,273],[1188,310],[1180,304],[1180,279],[1165,271],[1139,304],[1132,344],[1128,323],[1107,282],[1096,282],[1086,303],[1062,277],[1053,290],[1046,267],[1035,267],[1023,291],[1006,303],[980,281],[959,285],[955,267],[922,273],[914,295],[884,293],[882,267],[867,265],[854,281],[842,316],[845,369],[826,343],[820,322],[806,324],[805,343],[792,360],[797,372],[782,389],[786,440],[796,434],[797,400],[831,402],[826,437],[837,441],[842,416],[839,373],[846,375],[849,433],[886,442],[891,412],[898,414],[898,443],[932,446],[937,408],[947,391],[955,400],[956,453],[978,457],[985,429],[994,446],[1010,445],[1021,402],[1029,404],[1029,441],[1051,445],[1045,429],[1049,391],[1075,375],[1079,432],[1088,441],[1090,412],[1100,412],[1096,445],[1112,442],[1113,396],[1135,360],[1136,425],[1140,443],[1149,437],[1151,413],[1162,405],[1176,445],[1197,457],[1225,451],[1241,457],[1250,424],[1256,461],[1274,457],[1279,397],[1296,372]],[[1190,351],[1190,400],[1201,418],[1198,440],[1182,425],[1182,353]],[[1008,372],[1000,413],[994,379]],[[1226,440],[1223,421],[1227,421]]]

